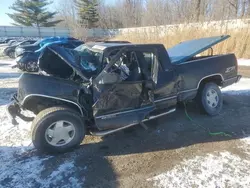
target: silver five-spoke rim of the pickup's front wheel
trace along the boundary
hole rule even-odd
[[[64,146],[75,136],[75,126],[68,121],[52,123],[45,131],[45,139],[52,146]]]

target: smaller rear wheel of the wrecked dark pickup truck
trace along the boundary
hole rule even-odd
[[[213,100],[212,102],[207,98],[210,97],[209,94],[211,93],[215,95],[215,101]],[[210,116],[216,116],[222,110],[222,93],[218,85],[213,82],[206,83],[199,89],[197,99],[201,110]]]

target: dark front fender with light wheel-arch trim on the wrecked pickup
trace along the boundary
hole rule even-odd
[[[70,80],[24,73],[19,79],[17,100],[21,106],[24,106],[31,98],[43,97],[44,100],[60,100],[82,109],[78,103],[80,89],[78,83]]]

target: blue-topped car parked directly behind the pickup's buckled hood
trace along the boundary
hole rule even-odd
[[[48,42],[44,44],[40,49],[34,52],[25,52],[21,56],[18,56],[16,58],[17,65],[15,67],[26,72],[37,72],[39,70],[38,58],[40,54],[47,46],[52,45],[52,44],[56,44],[64,48],[74,49],[78,47],[79,45],[82,45],[83,42],[77,39]]]

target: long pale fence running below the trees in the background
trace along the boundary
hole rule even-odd
[[[210,29],[227,31],[230,29],[249,28],[250,19],[236,19],[211,21],[202,23],[187,23],[175,25],[122,28],[122,29],[84,29],[79,28],[78,34],[86,38],[114,37],[129,33],[153,34],[159,37],[171,35],[176,29],[183,30],[187,28]],[[49,36],[74,36],[74,31],[68,28],[48,28],[48,27],[18,27],[18,26],[0,26],[0,37],[49,37]]]

